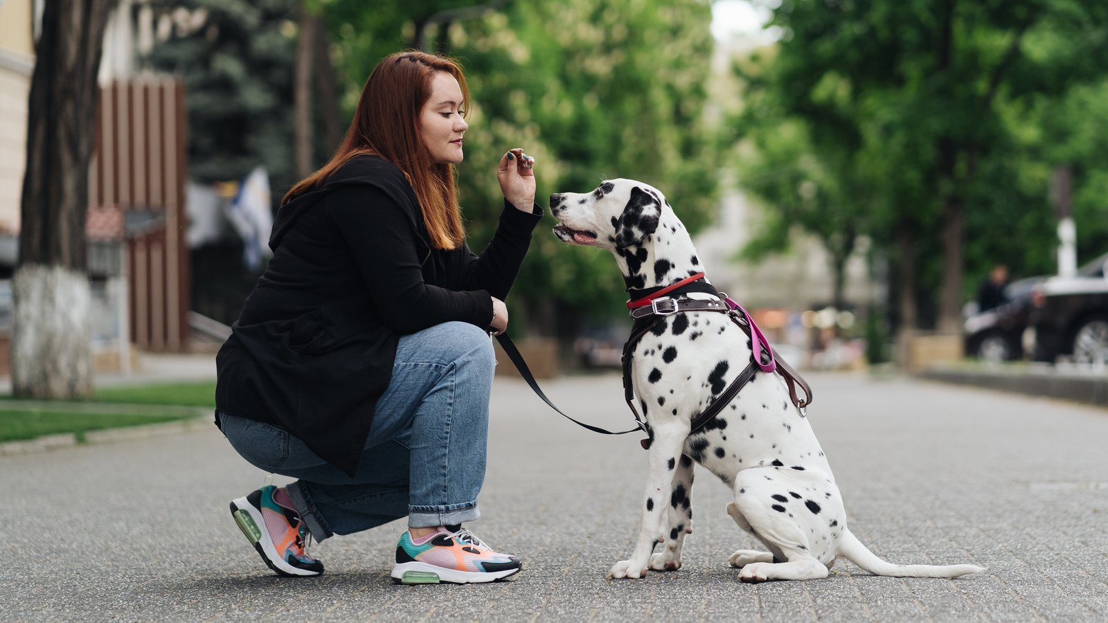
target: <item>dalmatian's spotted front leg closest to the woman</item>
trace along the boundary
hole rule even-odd
[[[617,562],[608,579],[642,578],[646,574],[650,553],[658,542],[665,541],[665,525],[669,509],[669,486],[673,482],[673,470],[681,456],[685,438],[688,437],[688,422],[674,420],[664,426],[654,427],[654,443],[649,450],[649,467],[646,478],[646,501],[643,504],[642,522],[639,523],[638,541],[635,551],[628,560]]]

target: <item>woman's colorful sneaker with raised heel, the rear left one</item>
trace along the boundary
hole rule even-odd
[[[308,528],[298,512],[274,501],[276,489],[268,484],[235,500],[230,503],[230,514],[261,560],[278,575],[319,575],[324,563],[305,551]]]

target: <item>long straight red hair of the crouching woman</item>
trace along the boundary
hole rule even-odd
[[[373,154],[404,172],[423,212],[431,246],[444,249],[461,246],[465,229],[458,207],[454,166],[431,160],[420,131],[420,112],[431,96],[431,81],[439,72],[458,80],[462,99],[468,102],[470,91],[462,68],[451,59],[407,51],[389,54],[377,63],[335,155],[319,171],[289,188],[281,205],[321,186],[350,159]]]

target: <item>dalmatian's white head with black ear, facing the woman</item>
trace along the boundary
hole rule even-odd
[[[555,193],[554,235],[567,244],[626,249],[658,228],[665,205],[657,188],[634,180],[608,180],[592,193]]]

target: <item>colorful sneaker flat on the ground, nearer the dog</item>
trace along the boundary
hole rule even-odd
[[[469,530],[440,529],[422,545],[412,543],[411,533],[404,532],[397,543],[392,581],[398,584],[493,582],[522,569],[520,559],[492,551]]]

